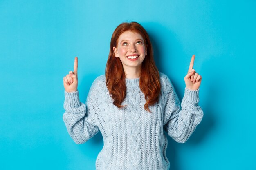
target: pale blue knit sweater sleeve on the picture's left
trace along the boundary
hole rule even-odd
[[[88,93],[85,104],[80,102],[79,93],[66,92],[63,114],[63,121],[67,131],[76,144],[83,144],[99,132],[95,122],[97,113],[97,94],[95,80]]]

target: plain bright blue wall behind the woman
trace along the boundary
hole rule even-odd
[[[63,77],[78,56],[85,102],[114,29],[137,21],[180,100],[193,54],[202,75],[204,118],[185,144],[168,137],[170,170],[255,170],[255,9],[254,0],[0,0],[0,169],[95,169],[101,133],[72,141]]]

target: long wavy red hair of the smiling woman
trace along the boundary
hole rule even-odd
[[[110,96],[114,101],[113,104],[118,108],[124,108],[127,105],[121,105],[126,97],[126,82],[125,73],[120,58],[115,57],[113,47],[117,47],[117,41],[119,36],[125,31],[132,31],[139,33],[145,42],[147,48],[147,55],[141,64],[141,73],[139,78],[139,88],[145,95],[146,103],[144,109],[149,111],[149,106],[155,104],[159,100],[160,94],[160,75],[155,65],[153,58],[153,48],[150,42],[148,33],[137,22],[123,22],[112,34],[110,41],[110,50],[108,55],[108,61],[105,69],[106,86],[109,90]]]

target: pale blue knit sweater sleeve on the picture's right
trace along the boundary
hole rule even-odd
[[[185,143],[201,122],[203,110],[198,106],[199,88],[185,88],[181,105],[173,84],[167,78],[168,93],[165,95],[164,130],[179,143]]]

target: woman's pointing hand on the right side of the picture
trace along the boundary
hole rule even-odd
[[[184,77],[186,88],[190,90],[197,90],[202,82],[202,76],[195,72],[193,69],[195,55],[192,56],[188,74]]]

